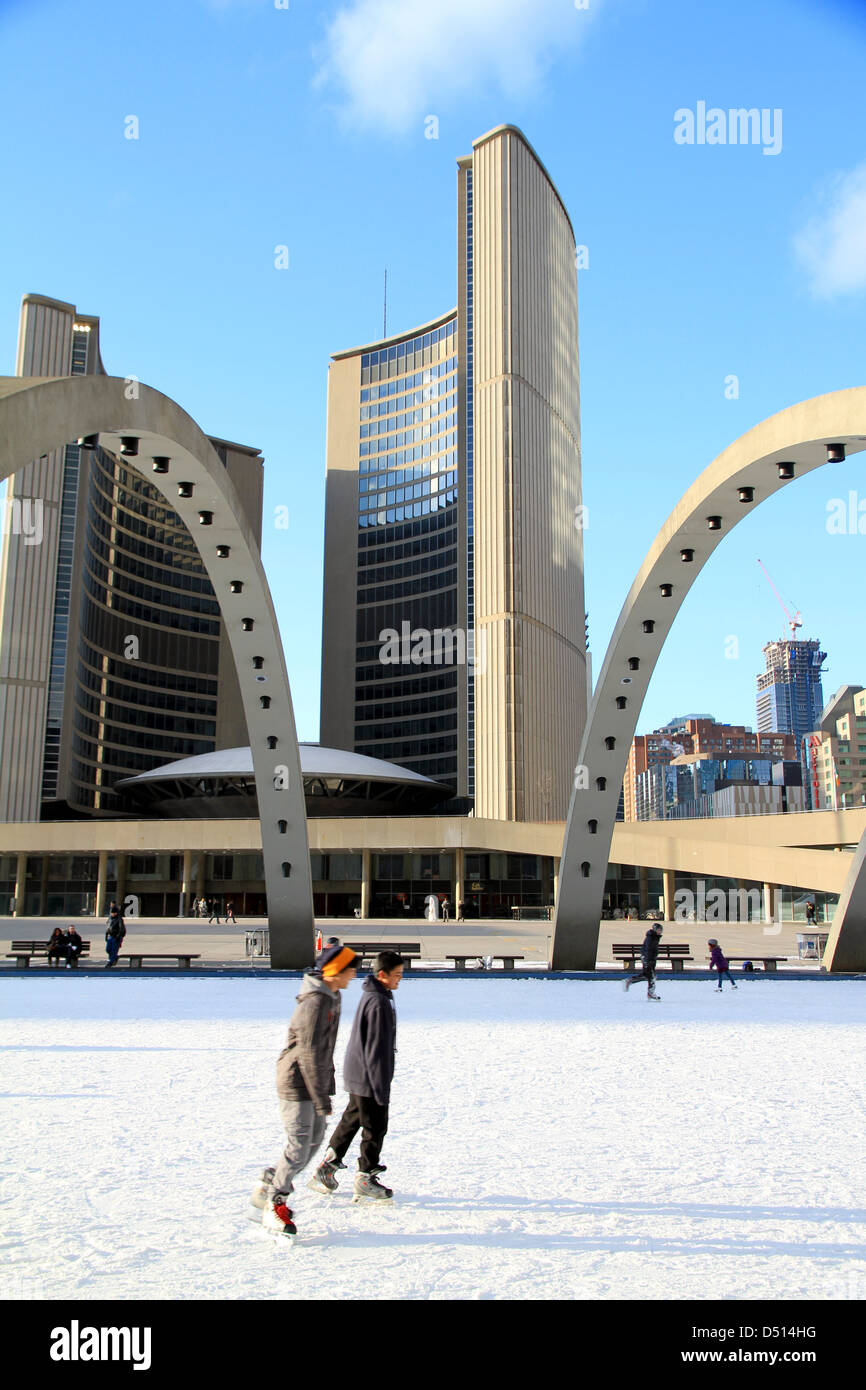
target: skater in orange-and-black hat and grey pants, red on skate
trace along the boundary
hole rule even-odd
[[[286,1131],[282,1156],[265,1168],[253,1191],[261,1207],[261,1225],[277,1236],[295,1236],[289,1193],[322,1138],[336,1091],[334,1047],[339,1027],[341,991],[357,973],[361,958],[350,947],[327,947],[304,976],[297,1008],[289,1022],[286,1045],[277,1059],[279,1115]]]

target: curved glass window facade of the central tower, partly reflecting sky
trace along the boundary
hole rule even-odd
[[[411,634],[457,626],[456,343],[455,316],[361,354],[354,653],[356,752],[455,787],[457,644]]]

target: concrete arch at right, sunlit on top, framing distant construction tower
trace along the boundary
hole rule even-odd
[[[744,516],[792,478],[833,461],[830,445],[844,445],[845,455],[866,448],[866,386],[803,400],[749,430],[699,475],[652,543],[610,638],[581,741],[559,874],[555,969],[595,967],[605,876],[628,752],[646,688],[685,595],[719,542]],[[842,922],[844,902],[848,916],[856,913],[858,903],[862,913],[863,842],[851,869],[862,883],[840,901],[834,937],[827,942],[834,951],[824,956],[828,969],[844,969],[837,962],[848,959],[841,951],[849,934]],[[862,954],[859,959],[862,963]]]

